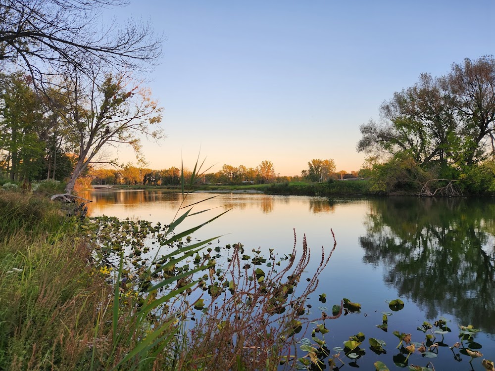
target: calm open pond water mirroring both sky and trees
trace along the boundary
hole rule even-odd
[[[213,195],[193,193],[189,203]],[[162,224],[173,220],[182,200],[180,194],[160,190],[91,191],[82,196],[94,201],[89,204],[90,216],[146,219]],[[358,332],[366,336],[360,346],[366,354],[353,361],[341,353],[346,363],[341,370],[350,370],[350,367],[373,370],[376,361],[391,370],[396,368],[395,363],[426,366],[430,361],[436,370],[485,370],[482,359],[494,360],[493,199],[329,199],[223,193],[196,208],[212,210],[189,218],[191,220],[181,226],[183,229],[230,211],[199,230],[195,237],[221,235],[218,245],[241,242],[247,251],[273,248],[283,255],[292,251],[295,229],[298,247],[303,234],[306,235],[314,254],[314,266],[318,264],[321,246],[327,251],[333,247],[333,230],[337,247],[311,296],[309,317],[320,317],[321,310],[331,313],[332,306],[340,304],[343,298],[361,304],[359,313],[327,322],[330,332],[325,340],[332,354],[335,353],[332,348],[344,347],[349,336]],[[303,282],[301,280],[301,284]],[[326,303],[318,301],[319,294],[323,293]],[[404,302],[404,308],[391,311],[386,301],[397,298]],[[383,312],[393,313],[388,317],[387,332],[377,327],[382,325]],[[393,331],[411,333],[412,342],[426,342],[426,334],[442,329],[434,325],[442,317],[451,331],[435,334],[433,342],[439,347],[431,351],[438,356],[427,358],[416,351],[404,361],[407,353],[401,354],[396,348],[399,339]],[[434,325],[426,334],[417,329],[424,321]],[[448,348],[460,341],[459,325],[481,329],[469,341],[463,341],[462,346],[483,353],[483,357],[470,363],[471,357],[462,346]],[[305,336],[310,337],[310,334]],[[385,341],[387,353],[373,352],[369,338]],[[337,366],[340,365],[338,362]]]

